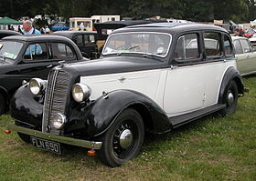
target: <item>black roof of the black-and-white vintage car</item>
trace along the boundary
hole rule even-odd
[[[194,22],[187,23],[154,23],[154,24],[145,24],[145,25],[132,25],[126,26],[114,31],[114,33],[121,32],[131,32],[133,31],[153,31],[157,30],[157,32],[165,32],[165,33],[174,33],[174,32],[186,32],[191,30],[218,30],[222,32],[228,33],[227,30],[218,26],[218,25],[206,25],[199,24]]]

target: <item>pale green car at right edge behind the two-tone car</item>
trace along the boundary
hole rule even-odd
[[[232,36],[240,75],[256,73],[256,51],[246,37]]]

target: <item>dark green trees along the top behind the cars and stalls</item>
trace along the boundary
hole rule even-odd
[[[121,15],[144,19],[160,15],[198,22],[231,19],[236,23],[256,18],[252,0],[1,0],[0,6],[0,16],[13,18],[61,15],[69,19],[71,16]]]

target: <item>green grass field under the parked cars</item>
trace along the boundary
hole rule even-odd
[[[141,154],[111,168],[73,148],[58,156],[5,135],[0,116],[0,180],[256,180],[256,76],[243,78],[250,93],[235,114],[208,116],[164,136],[147,136]]]

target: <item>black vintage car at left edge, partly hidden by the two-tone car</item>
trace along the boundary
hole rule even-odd
[[[24,80],[47,79],[59,62],[87,60],[69,38],[57,35],[15,35],[0,41],[0,114],[5,113],[16,89]]]

